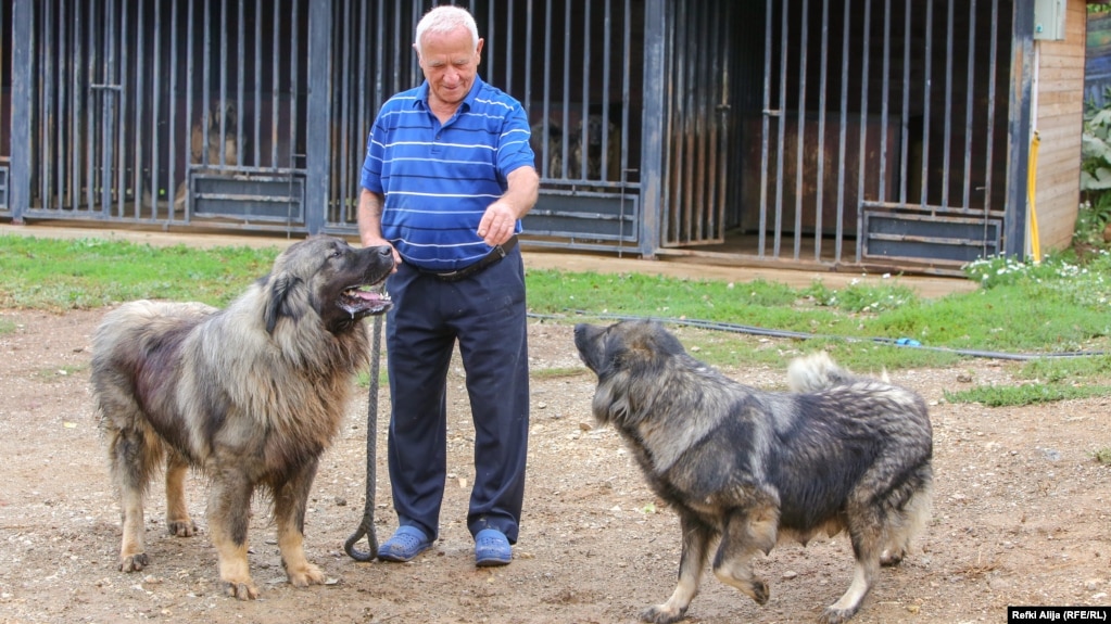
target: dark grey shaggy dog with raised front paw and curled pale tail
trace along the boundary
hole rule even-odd
[[[925,523],[933,442],[914,392],[853,375],[825,354],[791,364],[790,392],[761,391],[694,360],[651,321],[580,324],[574,343],[598,375],[594,417],[621,433],[680,517],[679,584],[644,621],[683,618],[714,540],[718,578],[764,604],[757,553],[847,529],[855,574],[820,617],[844,622]]]

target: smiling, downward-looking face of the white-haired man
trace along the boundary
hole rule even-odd
[[[483,40],[472,47],[471,33],[458,28],[448,33],[426,32],[417,50],[433,103],[458,105],[470,92],[481,61]]]

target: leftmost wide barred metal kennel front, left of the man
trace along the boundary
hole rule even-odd
[[[303,230],[306,6],[33,3],[24,214]]]

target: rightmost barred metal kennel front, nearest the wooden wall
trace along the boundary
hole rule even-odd
[[[1000,252],[1009,0],[768,0],[739,224],[760,258]]]

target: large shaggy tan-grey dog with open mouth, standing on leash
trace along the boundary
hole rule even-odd
[[[136,301],[104,316],[91,382],[120,494],[120,570],[149,563],[143,497],[164,460],[172,535],[197,532],[184,500],[188,469],[211,481],[207,519],[229,595],[258,596],[247,560],[258,487],[273,503],[289,582],[323,582],[304,557],[306,502],[368,362],[362,319],[391,305],[381,286],[392,269],[388,246],[313,236],[290,245],[224,310]]]

